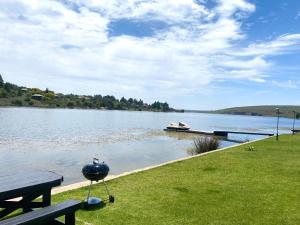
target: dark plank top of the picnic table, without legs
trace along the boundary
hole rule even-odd
[[[59,186],[63,177],[50,171],[0,174],[0,200]]]

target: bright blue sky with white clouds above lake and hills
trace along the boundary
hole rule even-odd
[[[0,74],[183,109],[300,105],[300,1],[0,0]]]

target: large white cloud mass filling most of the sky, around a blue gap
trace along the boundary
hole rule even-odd
[[[193,0],[2,0],[0,68],[18,84],[148,101],[218,80],[265,82],[265,56],[295,49],[300,34],[239,48],[241,20],[254,10],[246,0],[218,0],[212,9]],[[109,23],[124,18],[169,26],[149,37],[110,37]]]

